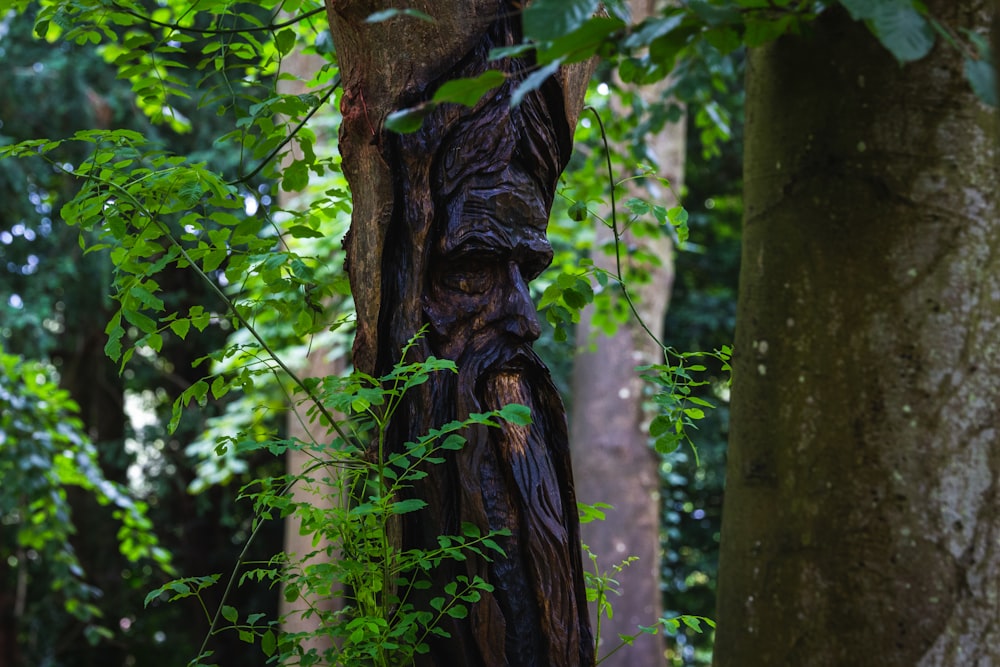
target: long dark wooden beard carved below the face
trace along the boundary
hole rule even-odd
[[[432,336],[424,353],[435,353],[443,342]],[[399,442],[510,403],[528,406],[532,424],[466,429],[465,446],[439,464],[444,470],[428,470],[404,494],[428,503],[399,517],[404,548],[433,551],[438,535],[460,534],[463,522],[484,534],[511,531],[495,539],[505,557],[484,550],[490,562],[474,554],[461,562],[446,560],[431,573],[433,587],[415,592],[418,607],[429,608],[429,599],[439,594],[434,591],[459,576],[470,581],[478,576],[494,587],[469,606],[468,618],[442,619],[441,629],[450,636],[430,637],[430,651],[416,656],[415,665],[592,665],[579,520],[558,391],[531,347],[503,336],[473,336],[454,361],[457,375],[435,373],[422,386],[423,398],[408,412],[408,435]]]

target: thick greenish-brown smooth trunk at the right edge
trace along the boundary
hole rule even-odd
[[[715,664],[1000,664],[996,115],[831,10],[751,52],[746,138]]]

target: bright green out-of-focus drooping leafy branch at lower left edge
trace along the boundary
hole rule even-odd
[[[69,494],[79,489],[107,507],[120,524],[117,542],[131,563],[173,573],[144,502],[105,478],[97,448],[86,437],[68,392],[51,369],[0,349],[0,558],[27,582],[48,579],[66,611],[86,623],[88,636],[110,637],[96,605],[101,590],[89,583],[72,540],[76,532]],[[8,535],[13,539],[6,539]],[[44,565],[43,574],[39,564]],[[10,582],[5,582],[10,583]],[[18,587],[14,587],[15,589]],[[27,595],[29,589],[22,589]],[[36,591],[37,593],[37,591]],[[15,602],[23,609],[26,599]]]

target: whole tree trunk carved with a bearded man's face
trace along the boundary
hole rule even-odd
[[[421,665],[593,663],[565,416],[531,351],[538,322],[527,283],[551,259],[549,208],[571,150],[589,66],[563,71],[511,108],[532,63],[487,61],[520,41],[519,5],[420,3],[434,22],[366,23],[372,3],[328,0],[341,67],[340,149],[354,199],[346,241],[358,311],[354,363],[383,374],[424,325],[415,358],[456,362],[457,376],[411,392],[392,425],[401,447],[452,419],[507,403],[532,408],[530,427],[477,429],[411,489],[429,506],[401,516],[403,549],[436,549],[463,523],[508,529],[488,563],[446,562],[440,591],[481,577],[492,594],[448,619]],[[389,113],[428,100],[447,80],[499,69],[506,82],[473,109],[443,105],[411,135],[383,129]],[[417,601],[420,602],[419,600]]]

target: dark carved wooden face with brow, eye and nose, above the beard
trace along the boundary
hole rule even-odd
[[[547,213],[538,186],[513,167],[470,179],[449,203],[423,300],[438,354],[502,356],[538,338],[528,283],[552,261]]]

